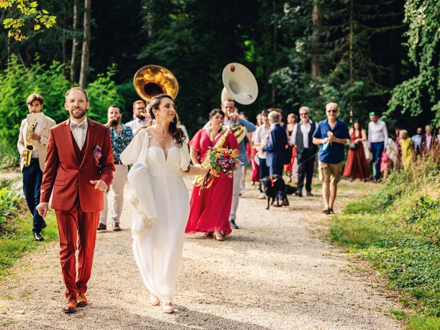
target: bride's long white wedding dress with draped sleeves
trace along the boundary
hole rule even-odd
[[[148,291],[161,300],[172,300],[181,265],[184,230],[189,214],[188,190],[180,169],[190,164],[188,145],[174,141],[168,155],[150,145],[143,129],[122,152],[123,164],[133,164],[129,182],[133,189],[133,255]]]

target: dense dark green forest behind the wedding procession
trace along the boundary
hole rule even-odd
[[[148,64],[179,80],[176,102],[191,132],[219,106],[230,62],[249,67],[259,83],[258,100],[239,107],[251,118],[267,107],[297,113],[307,105],[318,120],[333,100],[348,121],[376,111],[410,131],[440,122],[436,0],[38,2],[56,16],[52,28],[34,31],[25,17],[22,41],[0,30],[0,137],[12,144],[32,91],[57,121],[74,84],[91,89],[94,119],[104,121],[107,104],[118,102],[129,120],[133,75]],[[0,20],[20,14],[3,8]]]

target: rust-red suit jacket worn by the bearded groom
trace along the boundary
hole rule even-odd
[[[70,210],[78,194],[84,212],[99,212],[104,206],[102,191],[95,189],[90,180],[101,179],[108,187],[113,180],[115,166],[110,133],[106,126],[89,118],[87,126],[81,151],[70,131],[69,119],[50,129],[40,201],[49,202],[54,190],[54,210]],[[98,158],[99,151],[101,157]]]

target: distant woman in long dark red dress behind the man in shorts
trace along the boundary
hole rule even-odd
[[[344,168],[344,177],[349,177],[350,181],[353,179],[363,179],[367,181],[370,177],[369,163],[366,162],[364,146],[362,146],[362,141],[366,141],[365,130],[360,126],[359,120],[353,122],[353,127],[350,131],[351,143],[355,144],[355,148],[349,148],[349,153],[347,155],[347,162]]]

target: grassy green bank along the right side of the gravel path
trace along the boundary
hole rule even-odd
[[[333,217],[330,227],[333,241],[369,261],[401,294],[405,310],[389,311],[388,315],[411,330],[440,330],[437,159],[394,173],[379,191],[348,203]]]

